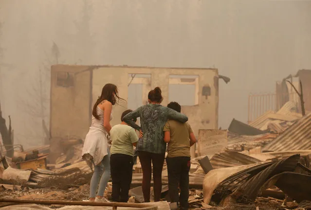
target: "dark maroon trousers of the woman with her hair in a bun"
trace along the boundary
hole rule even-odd
[[[150,202],[151,161],[153,166],[153,194],[154,201],[160,201],[162,191],[162,170],[165,153],[150,153],[138,151],[138,157],[143,170],[143,195],[145,202]]]

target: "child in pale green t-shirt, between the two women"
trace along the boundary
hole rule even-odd
[[[114,125],[110,130],[110,170],[112,178],[112,201],[128,202],[128,191],[132,182],[133,146],[138,136],[134,128],[123,121],[124,116],[132,110],[122,113],[121,124]],[[136,119],[132,120],[136,122]]]

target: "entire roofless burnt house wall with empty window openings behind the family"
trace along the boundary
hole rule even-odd
[[[57,87],[57,71],[75,72],[74,87]],[[92,107],[98,96],[101,94],[102,87],[107,83],[117,85],[120,97],[128,101],[128,75],[132,73],[151,74],[151,88],[158,86],[162,89],[164,97],[163,105],[167,105],[168,103],[169,75],[199,75],[199,88],[197,93],[199,95],[199,103],[198,105],[182,106],[182,112],[189,117],[189,123],[196,136],[198,136],[199,129],[218,128],[219,96],[218,70],[216,69],[56,65],[52,67],[52,136],[76,135],[80,138],[84,138],[90,124],[90,107]],[[211,91],[210,96],[208,97],[202,96],[202,88],[204,86],[210,87]],[[148,91],[149,90],[145,90],[144,92]],[[122,101],[119,105],[113,107],[112,125],[120,123],[121,113],[126,109],[127,104]]]

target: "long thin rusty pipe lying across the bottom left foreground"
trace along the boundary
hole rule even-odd
[[[27,200],[27,199],[11,199],[0,198],[0,202],[6,203],[22,203],[22,204],[56,204],[56,205],[72,205],[72,206],[106,206],[116,210],[117,207],[137,208],[139,210],[158,210],[156,205],[139,204],[139,203],[119,203],[119,202],[90,202],[90,201],[66,201],[66,200]]]

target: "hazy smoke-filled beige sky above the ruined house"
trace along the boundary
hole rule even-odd
[[[0,0],[0,22],[1,105],[30,145],[41,120],[27,113],[53,42],[58,63],[218,68],[231,78],[220,81],[223,128],[247,121],[249,93],[311,69],[310,0]],[[49,72],[42,81],[48,99]]]

